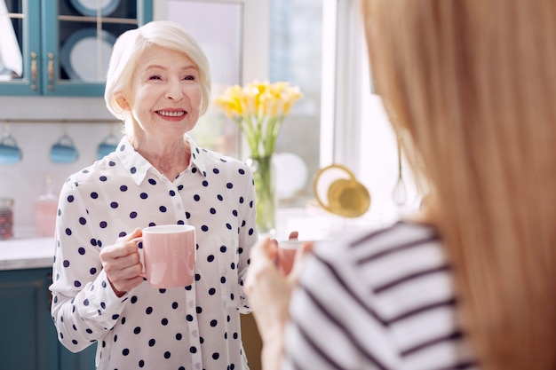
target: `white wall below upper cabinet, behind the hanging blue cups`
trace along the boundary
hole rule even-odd
[[[76,120],[95,122],[75,123]],[[0,163],[0,198],[14,200],[16,237],[34,235],[35,201],[46,192],[46,176],[53,176],[54,189],[60,191],[69,174],[95,160],[97,146],[110,130],[119,134],[120,124],[109,122],[116,121],[110,118],[102,98],[0,97],[0,136],[9,124],[23,152],[19,163]],[[70,164],[52,163],[51,146],[64,130],[73,138],[79,159]]]

